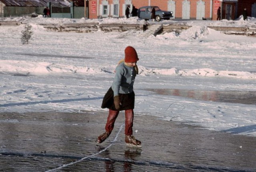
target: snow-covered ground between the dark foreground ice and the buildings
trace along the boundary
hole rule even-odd
[[[34,32],[30,44],[22,45],[24,25],[0,26],[0,112],[106,111],[100,108],[102,98],[129,45],[140,58],[140,74],[134,84],[136,115],[256,136],[256,102],[235,104],[196,98],[216,96],[208,91],[256,92],[256,38],[225,35],[206,27],[256,27],[255,18],[188,21],[192,28],[180,35],[168,33],[148,38],[140,36],[142,31],[64,33],[48,31],[41,25],[94,20],[39,16],[0,21],[29,23]],[[143,21],[107,18],[97,22]],[[162,21],[170,22],[173,21]],[[196,90],[205,94],[186,98],[147,89],[172,89],[190,94],[189,97]]]

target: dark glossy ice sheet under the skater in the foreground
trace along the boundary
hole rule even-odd
[[[256,137],[138,116],[142,149],[124,143],[123,112],[96,146],[107,112],[0,113],[0,171],[252,172]],[[146,122],[145,122],[146,121]],[[153,126],[153,127],[152,127]],[[57,169],[58,168],[58,169]]]

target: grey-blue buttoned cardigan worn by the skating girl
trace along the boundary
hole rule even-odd
[[[116,74],[114,77],[114,82],[112,83],[112,90],[114,91],[114,96],[118,94],[129,94],[133,92],[133,84],[136,77],[136,71],[134,67],[130,67],[120,63],[116,66]]]

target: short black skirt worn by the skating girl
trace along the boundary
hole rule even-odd
[[[135,101],[134,92],[129,94],[119,94],[119,98],[120,98],[120,103],[122,104],[120,105],[120,111],[134,109],[134,101]],[[116,110],[115,104],[114,104],[114,92],[111,87],[108,89],[108,91],[106,92],[102,100],[101,108]]]

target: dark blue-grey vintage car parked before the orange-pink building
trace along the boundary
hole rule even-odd
[[[150,20],[151,19],[151,11],[152,9],[155,8],[156,10],[156,15],[155,15],[155,20],[160,21],[162,19],[169,20],[172,18],[172,13],[170,11],[162,11],[158,6],[143,6],[138,9],[138,17],[144,20]]]

